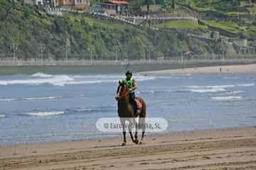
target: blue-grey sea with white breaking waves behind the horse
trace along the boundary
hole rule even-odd
[[[119,79],[124,74],[0,75],[0,145],[122,137],[95,125],[117,117]],[[256,125],[256,74],[134,74],[134,79],[147,117],[167,121],[162,133]]]

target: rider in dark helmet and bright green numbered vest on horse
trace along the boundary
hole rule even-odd
[[[129,101],[133,104],[134,106],[134,114],[137,117],[138,114],[138,106],[137,102],[135,101],[135,90],[137,89],[137,82],[135,79],[132,78],[132,72],[128,70],[125,73],[126,78],[122,79],[119,81],[120,83],[124,83],[129,87]]]

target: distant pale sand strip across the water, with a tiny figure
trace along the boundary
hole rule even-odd
[[[215,67],[195,67],[186,69],[164,69],[149,72],[139,72],[139,74],[235,74],[235,73],[256,73],[256,64],[225,65]]]

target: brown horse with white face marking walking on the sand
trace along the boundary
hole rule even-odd
[[[136,99],[141,103],[141,107],[139,108],[139,125],[137,124],[134,116],[134,108],[132,106],[132,103],[129,101],[129,87],[125,84],[120,83],[119,86],[121,86],[120,91],[117,92],[117,96],[115,96],[115,99],[118,101],[118,115],[120,118],[120,122],[122,124],[123,129],[123,135],[124,135],[124,141],[122,142],[122,146],[126,145],[126,130],[125,130],[125,121],[127,120],[129,122],[129,134],[131,135],[132,142],[135,144],[142,145],[142,140],[145,135],[145,118],[146,118],[146,103],[144,100],[140,97],[136,97]],[[133,137],[132,135],[132,128],[130,125],[135,125],[136,132]],[[142,139],[139,142],[138,140],[138,127],[142,128]]]

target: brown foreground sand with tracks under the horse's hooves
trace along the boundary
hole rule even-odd
[[[128,138],[129,139],[129,138]],[[0,147],[0,169],[256,169],[256,127]]]

